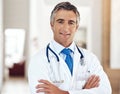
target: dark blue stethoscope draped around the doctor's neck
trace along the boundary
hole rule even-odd
[[[59,62],[60,59],[59,59],[58,55],[50,48],[49,45],[50,45],[50,43],[49,43],[49,44],[47,45],[47,47],[46,47],[46,57],[47,57],[48,62],[50,63],[49,51],[51,51],[51,52],[55,55],[55,57],[56,57],[56,59],[57,59],[57,62]],[[80,53],[80,63],[81,63],[81,65],[85,65],[84,55],[83,55],[83,53],[81,52],[81,50],[78,48],[77,45],[76,45],[76,47],[77,47],[78,52]]]

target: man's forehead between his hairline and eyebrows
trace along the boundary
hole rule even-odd
[[[73,11],[61,9],[55,13],[55,19],[76,20],[77,16]]]

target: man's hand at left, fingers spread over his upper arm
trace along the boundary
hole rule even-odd
[[[40,84],[36,86],[36,93],[44,92],[45,94],[69,94],[67,91],[59,89],[47,80],[39,80]]]

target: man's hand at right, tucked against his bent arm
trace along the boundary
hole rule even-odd
[[[100,82],[100,77],[96,75],[90,76],[90,78],[87,80],[85,86],[83,89],[90,89],[90,88],[95,88],[99,86]]]

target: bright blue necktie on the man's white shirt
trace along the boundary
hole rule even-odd
[[[71,52],[72,50],[71,49],[63,49],[61,51],[61,53],[65,54],[66,55],[66,58],[65,58],[65,62],[71,72],[71,75],[72,75],[72,72],[73,72],[73,58],[71,57]]]

